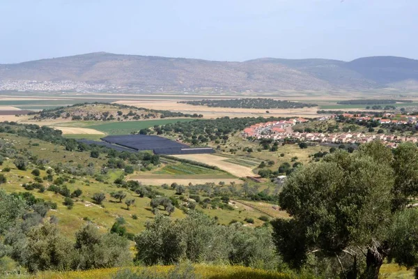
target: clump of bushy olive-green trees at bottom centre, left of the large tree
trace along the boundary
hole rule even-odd
[[[251,229],[240,223],[217,225],[215,220],[196,212],[180,220],[156,216],[135,242],[136,259],[146,264],[171,264],[182,259],[260,268],[279,264],[268,228]]]

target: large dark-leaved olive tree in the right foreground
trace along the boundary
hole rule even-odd
[[[392,155],[380,142],[371,142],[352,154],[336,151],[290,176],[279,204],[293,218],[272,223],[284,261],[300,267],[308,255],[334,257],[350,278],[378,278],[390,253],[400,264],[418,264],[413,256],[418,249],[406,247],[412,241],[408,234],[418,232],[412,222],[418,217],[410,213],[415,209],[405,208],[405,199],[418,193],[418,149],[413,144],[398,148]],[[405,248],[405,257],[397,247]],[[345,255],[350,260],[341,262]]]

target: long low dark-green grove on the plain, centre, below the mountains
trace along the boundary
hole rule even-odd
[[[189,105],[207,105],[208,107],[239,107],[247,109],[295,109],[302,107],[316,107],[311,103],[291,102],[288,100],[274,100],[270,98],[240,98],[231,100],[185,100],[179,103]]]

